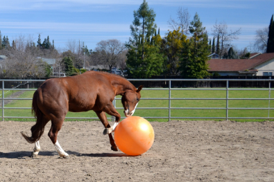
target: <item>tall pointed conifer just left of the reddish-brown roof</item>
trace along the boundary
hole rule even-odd
[[[194,20],[191,21],[189,32],[192,37],[183,44],[181,62],[181,75],[185,78],[204,78],[209,75],[207,61],[210,54],[207,43],[207,34],[200,18],[196,12]]]

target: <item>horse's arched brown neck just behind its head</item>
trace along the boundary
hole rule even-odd
[[[112,86],[114,87],[114,92],[116,93],[115,95],[121,95],[126,90],[132,90],[135,91],[135,87],[133,84],[128,82],[128,80],[119,78],[112,80]]]

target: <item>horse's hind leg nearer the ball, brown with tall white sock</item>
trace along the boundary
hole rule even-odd
[[[69,154],[65,152],[61,145],[58,143],[57,136],[58,136],[58,131],[60,131],[62,127],[63,120],[53,120],[51,122],[51,129],[49,130],[49,138],[51,138],[51,141],[57,150],[58,154],[62,158],[69,158]]]

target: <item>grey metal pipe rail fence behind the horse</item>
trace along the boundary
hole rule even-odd
[[[274,119],[269,116],[269,112],[271,109],[270,102],[271,100],[274,100],[274,98],[271,98],[271,82],[274,80],[271,79],[260,79],[260,80],[248,80],[248,79],[128,79],[130,82],[168,82],[169,87],[168,88],[144,88],[143,90],[167,90],[169,91],[169,98],[142,98],[142,100],[169,100],[169,107],[137,107],[137,109],[168,109],[169,110],[169,116],[168,117],[144,117],[144,118],[164,118],[168,120],[172,119],[223,119],[223,120],[230,120],[230,119]],[[1,90],[1,100],[2,100],[2,107],[0,109],[2,110],[2,120],[5,118],[34,118],[34,117],[17,117],[17,116],[5,116],[5,110],[6,109],[31,109],[31,107],[5,107],[4,100],[32,100],[32,98],[5,98],[5,91],[35,91],[36,89],[28,89],[28,84],[31,84],[32,82],[44,82],[44,80],[0,80],[2,82],[2,89]],[[226,88],[178,88],[173,87],[173,82],[225,82]],[[268,82],[268,88],[230,88],[230,82]],[[17,87],[12,88],[5,88],[5,82],[20,82],[20,85],[24,84],[25,87],[27,85],[27,89],[17,89]],[[174,90],[218,90],[218,91],[226,91],[226,97],[225,98],[172,98],[171,93]],[[229,98],[229,91],[236,91],[236,90],[248,90],[248,91],[268,91],[268,98]],[[123,107],[116,107],[117,100],[121,100],[121,98],[115,98],[113,100],[114,107],[116,109],[123,109]],[[171,100],[225,100],[226,106],[225,107],[171,107]],[[228,101],[229,100],[268,100],[268,107],[262,108],[262,107],[252,107],[252,108],[246,108],[246,107],[229,107]],[[223,109],[226,111],[225,117],[178,117],[178,116],[171,116],[171,110],[173,109]],[[230,109],[267,109],[268,110],[268,117],[230,117],[229,116],[229,110]],[[98,119],[98,118],[74,118],[74,117],[66,117],[67,119]],[[121,117],[125,118],[125,117]],[[108,118],[111,119],[111,118]],[[113,118],[112,118],[113,120]]]

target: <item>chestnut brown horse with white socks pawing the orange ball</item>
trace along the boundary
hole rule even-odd
[[[36,157],[40,151],[39,139],[49,120],[51,120],[49,138],[61,157],[69,156],[57,140],[58,131],[68,111],[95,111],[105,127],[103,134],[108,134],[110,138],[111,149],[117,151],[111,132],[118,125],[121,116],[114,108],[112,100],[116,95],[122,95],[121,101],[125,116],[132,116],[141,98],[142,87],[136,89],[133,84],[119,75],[97,71],[46,80],[33,94],[32,112],[37,121],[31,127],[31,136],[22,132],[22,136],[28,143],[35,143],[32,156]],[[115,116],[113,127],[110,127],[105,113]]]

